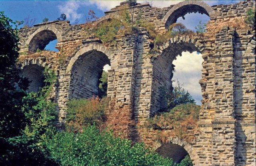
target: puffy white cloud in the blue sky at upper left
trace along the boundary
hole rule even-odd
[[[84,1],[66,1],[63,5],[59,5],[58,9],[60,13],[64,13],[67,16],[67,20],[74,22],[76,19],[82,18],[83,14],[78,14],[78,8],[85,4]]]

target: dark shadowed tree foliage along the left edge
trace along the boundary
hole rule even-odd
[[[0,12],[0,142],[3,144],[5,138],[18,135],[26,125],[21,111],[22,97],[26,94],[16,89],[20,79],[15,67],[19,50],[17,26],[17,22]]]

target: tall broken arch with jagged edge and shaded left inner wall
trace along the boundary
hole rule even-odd
[[[153,60],[152,107],[150,116],[153,116],[161,109],[165,109],[164,92],[172,90],[172,72],[175,67],[172,62],[178,55],[181,56],[183,51],[189,51],[190,53],[198,51],[202,55],[206,53],[204,45],[189,36],[176,36],[160,47],[158,57]]]

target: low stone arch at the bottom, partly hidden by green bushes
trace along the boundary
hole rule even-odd
[[[194,166],[199,166],[196,150],[190,143],[178,137],[171,137],[168,143],[161,144],[155,151],[163,157],[172,158],[175,163],[179,163],[186,155],[189,155]]]

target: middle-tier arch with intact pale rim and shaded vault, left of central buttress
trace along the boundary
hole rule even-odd
[[[91,44],[82,47],[71,58],[66,69],[70,73],[68,98],[88,98],[98,94],[98,84],[104,65],[111,67],[114,55],[105,46]]]

